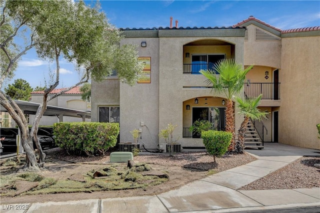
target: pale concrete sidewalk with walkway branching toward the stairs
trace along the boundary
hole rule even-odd
[[[319,212],[320,188],[237,190],[319,150],[265,143],[257,160],[153,196],[2,204],[1,212]],[[72,196],[72,194],[70,194]],[[19,209],[24,208],[24,209]],[[27,209],[25,209],[27,208]]]

